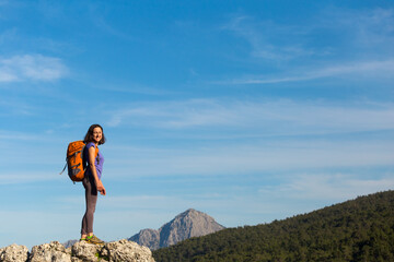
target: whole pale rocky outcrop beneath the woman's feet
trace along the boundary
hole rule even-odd
[[[60,242],[53,241],[27,248],[11,245],[0,249],[0,262],[85,262],[85,261],[128,261],[154,262],[150,249],[126,239],[92,245],[84,241],[66,249]]]

